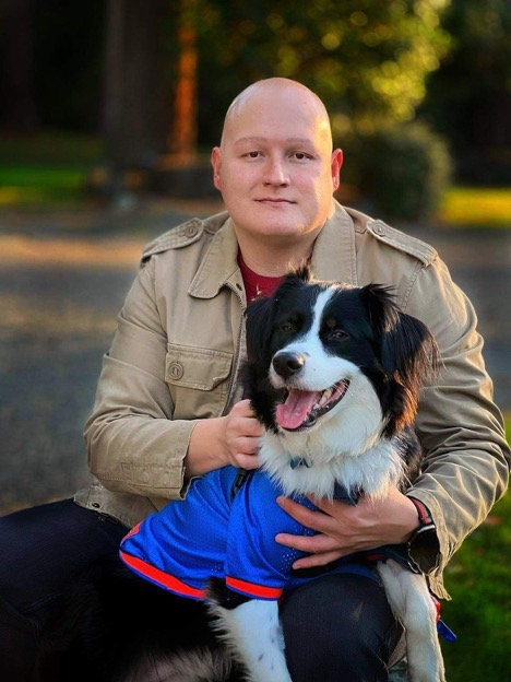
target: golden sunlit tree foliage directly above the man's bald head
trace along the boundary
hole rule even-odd
[[[335,133],[368,133],[413,118],[426,74],[449,48],[444,0],[201,2],[200,91],[210,115],[254,80],[281,75],[322,97]]]

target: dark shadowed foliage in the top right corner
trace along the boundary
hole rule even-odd
[[[453,36],[427,80],[419,115],[449,137],[465,183],[511,184],[511,3],[451,0],[442,25]]]

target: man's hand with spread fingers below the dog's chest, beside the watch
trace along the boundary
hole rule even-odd
[[[289,516],[318,532],[312,537],[289,533],[275,537],[281,544],[310,553],[310,556],[297,560],[293,568],[323,566],[354,552],[406,542],[419,525],[414,504],[397,489],[391,489],[389,495],[378,502],[360,497],[356,506],[338,501],[325,502],[313,495],[309,499],[318,511],[288,497],[277,497],[277,503]]]

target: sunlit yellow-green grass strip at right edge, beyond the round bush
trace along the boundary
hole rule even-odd
[[[453,187],[445,192],[438,217],[453,227],[511,227],[511,187]]]

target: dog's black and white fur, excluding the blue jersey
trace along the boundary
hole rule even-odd
[[[419,471],[413,422],[419,392],[435,375],[438,350],[426,326],[401,311],[388,287],[314,281],[302,267],[290,272],[272,296],[248,307],[247,338],[246,392],[265,426],[259,457],[284,494],[313,493],[332,499],[341,484],[356,495],[381,499],[391,486],[406,489]],[[425,577],[393,560],[378,563],[377,571],[405,628],[409,679],[443,681],[437,614]],[[173,598],[154,586],[146,589],[151,603],[157,603],[158,593],[161,599]],[[136,592],[130,586],[126,600]],[[174,633],[168,649],[168,671],[174,672],[155,679],[237,680],[236,666],[241,666],[251,682],[290,682],[278,644],[276,601],[234,595],[212,583],[207,608],[219,643],[205,635],[202,651],[185,647],[185,654],[176,654]],[[171,607],[157,611],[176,623]],[[206,623],[204,614],[200,622]],[[148,625],[142,630],[146,633]],[[146,642],[145,657],[151,649]],[[130,647],[135,660],[140,648],[140,642]],[[204,658],[211,650],[215,673]],[[164,643],[151,650],[154,670],[163,651]],[[234,655],[235,668],[227,652]],[[139,662],[128,665],[129,673],[110,672],[109,679],[153,679],[141,666],[139,656]]]

